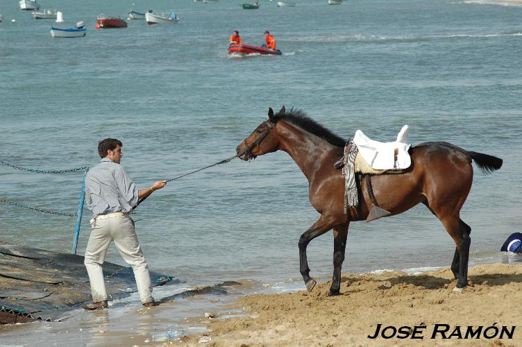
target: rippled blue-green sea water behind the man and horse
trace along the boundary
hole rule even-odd
[[[361,129],[410,142],[447,141],[503,158],[500,171],[475,167],[461,217],[472,228],[470,264],[507,261],[499,252],[521,230],[522,15],[516,1],[302,0],[294,8],[239,2],[42,0],[65,24],[34,20],[3,0],[0,12],[0,160],[22,167],[94,166],[100,139],[124,143],[121,161],[138,187],[174,178],[235,154],[268,108],[296,108],[334,133]],[[176,25],[95,30],[96,15],[174,10]],[[15,22],[11,22],[15,19]],[[87,24],[87,35],[52,38],[52,25]],[[229,57],[239,31],[259,45],[271,31],[283,56]],[[44,210],[76,212],[81,173],[44,175],[0,166],[0,197]],[[103,313],[75,310],[62,323],[1,328],[2,343],[143,344],[174,324],[220,310],[253,292],[304,289],[300,235],[319,214],[308,182],[286,153],[233,160],[172,181],[133,214],[151,269],[179,285],[174,297],[139,310],[136,294]],[[90,232],[84,211],[78,243]],[[74,218],[0,203],[0,239],[69,252]],[[455,244],[423,206],[371,223],[351,223],[344,272],[449,266]],[[123,264],[113,247],[108,261]],[[312,276],[332,272],[332,235],[308,247]],[[183,296],[224,281],[226,291]],[[224,294],[227,293],[227,294]],[[228,314],[228,312],[224,312]],[[241,314],[241,310],[230,314]],[[192,318],[191,318],[192,317]],[[201,328],[201,326],[200,326]],[[81,330],[82,329],[82,330]]]

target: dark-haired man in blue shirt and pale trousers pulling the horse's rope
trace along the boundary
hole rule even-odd
[[[141,198],[167,185],[166,180],[155,182],[150,188],[138,190],[119,162],[123,144],[118,139],[103,139],[98,144],[102,158],[85,176],[85,198],[92,212],[91,235],[85,249],[85,267],[89,274],[92,303],[85,310],[108,307],[101,264],[110,242],[114,241],[121,257],[132,266],[137,291],[145,307],[155,306],[152,297],[149,266],[137,240],[134,221],[128,216]]]

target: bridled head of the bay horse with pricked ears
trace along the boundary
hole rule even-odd
[[[276,126],[276,117],[285,115],[285,106],[274,115],[269,108],[268,120],[262,122],[244,141],[236,148],[236,153],[242,160],[255,159],[258,155],[277,151],[279,140],[273,135],[273,128]]]

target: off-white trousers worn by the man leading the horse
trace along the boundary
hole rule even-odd
[[[85,249],[85,267],[89,274],[92,291],[92,301],[107,300],[107,291],[103,280],[101,264],[105,260],[110,242],[114,241],[121,257],[132,266],[136,280],[137,291],[142,303],[154,301],[152,297],[151,276],[149,265],[145,262],[142,248],[134,230],[134,221],[128,217],[118,216],[106,219],[96,219],[91,223],[91,235]]]

